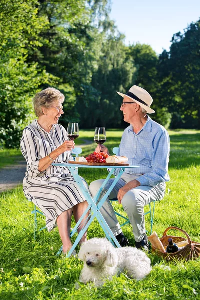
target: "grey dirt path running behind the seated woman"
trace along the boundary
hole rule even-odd
[[[84,139],[83,145],[77,147],[84,147],[91,144],[92,141]],[[25,159],[18,160],[16,164],[9,165],[0,169],[0,193],[8,189],[15,188],[17,185],[22,184],[26,172]]]

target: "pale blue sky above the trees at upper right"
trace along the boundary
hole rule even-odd
[[[200,0],[112,0],[109,15],[126,45],[148,44],[161,54],[169,51],[173,34],[199,20]]]

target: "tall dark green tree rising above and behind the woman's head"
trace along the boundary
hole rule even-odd
[[[108,2],[39,0],[38,15],[46,17],[49,26],[39,33],[42,46],[30,49],[28,60],[38,62],[57,77],[55,87],[65,95],[65,114],[61,120],[64,126],[81,118],[82,111],[78,112],[76,103],[84,105],[97,68],[102,43],[101,19],[107,14]]]

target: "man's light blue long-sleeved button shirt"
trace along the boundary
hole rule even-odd
[[[170,179],[169,151],[168,132],[148,116],[145,125],[137,134],[132,125],[124,130],[118,155],[128,157],[130,165],[139,165],[134,170],[126,168],[125,173],[144,174],[137,178],[140,184],[154,186]]]

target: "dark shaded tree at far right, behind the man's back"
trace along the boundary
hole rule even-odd
[[[172,128],[200,128],[200,20],[173,35],[158,71],[162,96],[172,114]]]

